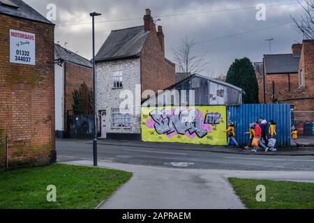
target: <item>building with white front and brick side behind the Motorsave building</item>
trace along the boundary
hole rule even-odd
[[[93,68],[91,61],[56,44],[54,70],[56,136],[63,138],[67,137],[68,113],[73,110],[73,91],[83,83],[92,91]]]

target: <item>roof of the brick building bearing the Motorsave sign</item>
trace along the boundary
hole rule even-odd
[[[22,0],[0,0],[0,14],[54,25]]]

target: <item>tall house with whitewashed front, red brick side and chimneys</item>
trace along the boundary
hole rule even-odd
[[[175,65],[165,58],[163,27],[156,29],[149,9],[143,20],[143,25],[113,30],[96,55],[102,138],[140,139],[142,100],[176,82]],[[130,114],[121,112],[124,98],[133,100]]]

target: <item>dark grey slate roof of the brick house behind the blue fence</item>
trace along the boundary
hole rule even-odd
[[[299,56],[292,54],[267,54],[264,55],[266,74],[296,73],[299,68]]]

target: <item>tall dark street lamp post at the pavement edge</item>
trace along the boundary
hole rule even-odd
[[[90,13],[93,20],[93,90],[94,90],[94,141],[93,141],[93,155],[94,155],[94,167],[97,167],[97,112],[96,112],[96,66],[95,66],[95,16],[101,15],[100,13]]]

